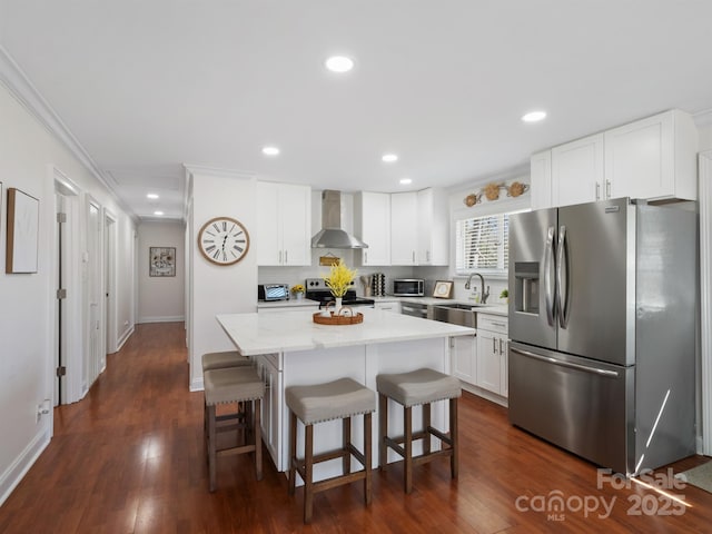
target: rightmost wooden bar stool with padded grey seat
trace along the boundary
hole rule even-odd
[[[388,448],[405,459],[404,490],[413,491],[413,466],[425,464],[438,456],[449,456],[449,471],[457,478],[457,398],[462,395],[459,380],[434,369],[376,376],[378,390],[378,454],[380,469],[386,468]],[[388,436],[388,398],[403,405],[404,435]],[[431,403],[449,399],[449,433],[431,426]],[[423,405],[423,429],[413,433],[413,406]],[[431,452],[431,436],[441,441],[443,448]],[[423,439],[423,454],[413,457],[413,442]],[[403,444],[403,446],[400,445]],[[445,447],[447,445],[447,447]]]

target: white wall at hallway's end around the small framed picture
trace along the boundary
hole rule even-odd
[[[176,248],[176,276],[149,276],[149,248]],[[138,227],[138,320],[161,323],[185,318],[185,228],[179,221],[147,221]]]

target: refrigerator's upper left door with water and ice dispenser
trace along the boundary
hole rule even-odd
[[[556,209],[510,217],[510,336],[556,348]]]

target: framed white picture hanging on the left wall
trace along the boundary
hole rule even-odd
[[[37,273],[40,201],[13,187],[8,188],[8,240],[4,271]]]

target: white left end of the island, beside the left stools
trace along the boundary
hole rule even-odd
[[[263,442],[269,451],[275,465],[281,459],[281,425],[283,425],[283,373],[278,369],[277,354],[257,356],[257,373],[265,383],[260,412],[260,428]]]

